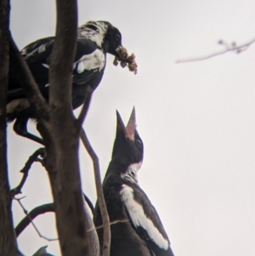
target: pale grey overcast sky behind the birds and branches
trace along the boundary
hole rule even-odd
[[[100,159],[101,174],[111,160],[116,109],[127,119],[136,107],[144,141],[139,185],[155,205],[176,256],[255,255],[255,44],[242,54],[228,53],[200,62],[223,49],[218,40],[246,43],[255,31],[250,0],[79,1],[79,25],[108,20],[122,32],[139,73],[112,65],[94,93],[84,123]],[[13,0],[11,31],[20,49],[54,35],[54,1]],[[30,129],[34,131],[34,123]],[[11,186],[40,145],[18,137],[8,125]],[[82,148],[82,146],[81,146]],[[96,200],[93,168],[82,149],[83,191]],[[68,157],[68,156],[66,156]],[[37,163],[23,189],[27,210],[51,202],[48,177]],[[24,213],[14,202],[14,223]],[[56,237],[53,214],[36,220],[44,236]],[[30,256],[48,244],[29,227],[20,250]]]

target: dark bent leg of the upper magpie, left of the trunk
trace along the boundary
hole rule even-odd
[[[27,117],[17,117],[14,122],[14,132],[22,137],[36,141],[39,144],[44,145],[43,140],[34,134],[27,131],[26,125],[28,122]]]

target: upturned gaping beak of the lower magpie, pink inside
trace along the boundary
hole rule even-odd
[[[122,131],[125,134],[126,138],[134,139],[134,133],[136,129],[136,121],[135,121],[135,109],[133,107],[133,111],[131,116],[129,117],[129,121],[127,122],[127,126],[125,127],[122,117],[120,116],[119,112],[116,111],[117,116],[117,130]]]

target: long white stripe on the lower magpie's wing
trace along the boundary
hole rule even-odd
[[[169,247],[169,242],[165,239],[156,226],[152,223],[151,219],[148,219],[144,213],[142,206],[135,202],[133,199],[133,189],[128,185],[122,185],[122,191],[120,192],[122,202],[124,202],[127,212],[135,227],[142,227],[147,231],[150,239],[156,243],[158,247],[166,250]]]

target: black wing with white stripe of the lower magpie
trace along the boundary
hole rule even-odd
[[[173,256],[167,233],[149,198],[139,186],[122,186],[122,202],[139,236],[156,256]]]

